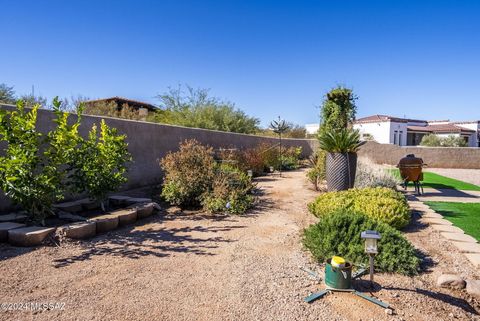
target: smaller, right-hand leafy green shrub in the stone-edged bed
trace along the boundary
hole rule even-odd
[[[99,201],[103,210],[108,193],[127,181],[126,164],[132,158],[125,139],[125,135],[119,135],[116,128],[109,127],[102,119],[100,135],[94,124],[72,160],[76,191],[86,192],[91,199]]]

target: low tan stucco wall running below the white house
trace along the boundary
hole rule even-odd
[[[415,154],[423,158],[430,167],[480,169],[480,148],[478,147],[400,147],[367,142],[360,148],[358,154],[378,164],[396,165],[405,155]]]

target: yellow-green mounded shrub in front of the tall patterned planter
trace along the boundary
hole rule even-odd
[[[405,227],[410,221],[405,197],[402,193],[385,187],[324,193],[308,204],[308,208],[317,217],[341,210],[354,210],[397,229]]]

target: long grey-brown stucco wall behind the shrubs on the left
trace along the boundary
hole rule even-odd
[[[11,109],[13,106],[0,105],[0,108]],[[72,121],[75,115],[71,115]],[[53,113],[49,110],[39,110],[37,126],[46,132],[53,128]],[[130,121],[118,118],[82,116],[80,133],[86,136],[94,123],[99,124],[102,118],[109,126],[115,127],[120,133],[127,135],[128,149],[133,156],[129,165],[128,183],[124,189],[157,184],[161,181],[162,172],[159,160],[169,151],[178,149],[180,142],[195,138],[213,148],[249,148],[262,142],[276,144],[278,139],[254,135],[227,133],[198,128],[161,125],[148,122]],[[301,146],[303,156],[309,156],[315,149],[317,141],[312,139],[282,139],[285,146]],[[7,207],[6,198],[0,195],[0,211]]]

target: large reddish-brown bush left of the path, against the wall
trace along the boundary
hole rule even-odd
[[[195,139],[180,144],[160,162],[165,171],[162,196],[174,205],[198,207],[215,176],[213,150]]]

